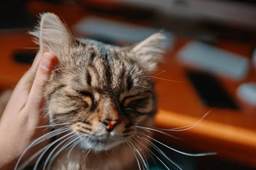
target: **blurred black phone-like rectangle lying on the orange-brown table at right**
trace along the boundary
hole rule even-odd
[[[213,108],[238,109],[236,103],[214,76],[194,71],[187,71],[186,74],[205,105]]]

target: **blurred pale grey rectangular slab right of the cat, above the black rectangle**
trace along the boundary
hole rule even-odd
[[[233,80],[242,80],[249,69],[249,59],[201,42],[191,42],[177,54],[181,63]]]

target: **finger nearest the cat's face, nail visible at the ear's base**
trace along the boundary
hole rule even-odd
[[[29,105],[29,108],[33,107],[35,109],[41,106],[43,100],[44,86],[47,80],[49,79],[50,72],[54,65],[57,63],[58,59],[52,53],[44,53],[41,57],[39,67],[37,69],[35,80],[32,84],[29,98],[26,105]]]

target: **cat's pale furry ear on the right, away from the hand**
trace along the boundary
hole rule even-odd
[[[139,62],[144,70],[153,70],[163,61],[163,55],[169,47],[169,39],[165,33],[156,33],[134,46],[130,57]],[[148,71],[149,73],[151,71]]]

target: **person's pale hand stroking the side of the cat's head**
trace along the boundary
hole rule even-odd
[[[0,169],[15,167],[17,159],[36,138],[46,134],[41,108],[44,105],[43,89],[54,65],[58,62],[51,53],[38,53],[29,71],[15,87],[0,119]],[[49,143],[42,142],[28,150],[23,160]],[[33,163],[33,162],[32,162]]]

